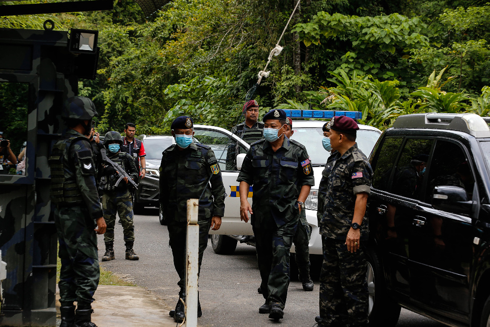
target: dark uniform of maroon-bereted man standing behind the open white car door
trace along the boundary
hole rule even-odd
[[[245,122],[238,124],[231,129],[231,133],[237,135],[248,144],[252,144],[263,139],[264,122],[256,122],[252,127],[248,127]],[[226,153],[226,170],[237,170],[237,154],[245,153],[235,141],[230,139],[228,152]]]

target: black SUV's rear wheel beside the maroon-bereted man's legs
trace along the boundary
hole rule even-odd
[[[385,286],[381,262],[374,250],[368,249],[369,326],[394,327],[401,307],[390,299]]]

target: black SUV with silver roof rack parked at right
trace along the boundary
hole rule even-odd
[[[490,118],[400,116],[374,147],[370,325],[490,326]],[[375,282],[375,283],[374,283]]]

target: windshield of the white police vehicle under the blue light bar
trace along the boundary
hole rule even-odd
[[[324,165],[330,152],[325,151],[321,145],[323,131],[317,127],[293,128],[291,139],[297,141],[306,147],[313,165]],[[380,134],[374,130],[360,129],[357,131],[357,146],[367,157],[371,154],[372,148],[376,144]]]

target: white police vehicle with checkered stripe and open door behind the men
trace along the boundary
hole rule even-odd
[[[298,110],[299,111],[299,110]],[[310,155],[310,159],[313,165],[313,171],[315,175],[315,186],[312,187],[310,195],[305,202],[306,206],[306,218],[308,224],[312,227],[312,234],[310,240],[310,254],[321,254],[321,237],[319,235],[319,228],[317,222],[317,192],[321,179],[321,172],[325,165],[329,152],[325,151],[321,145],[321,139],[323,132],[321,127],[325,124],[325,121],[293,121],[294,134],[291,137],[293,140],[303,144]],[[376,141],[381,135],[381,131],[375,127],[359,125],[360,130],[357,132],[357,144],[359,149],[363,151],[366,156],[371,153]],[[230,138],[237,142],[240,147],[244,149],[244,152],[250,147],[243,140],[236,135],[231,134],[228,130],[216,127],[216,126],[204,126],[195,125],[195,138],[202,144],[210,146],[216,157],[219,159],[221,175],[223,177],[223,184],[226,190],[225,198],[225,211],[224,217],[222,217],[222,224],[219,230],[210,230],[211,242],[213,250],[219,254],[232,254],[236,247],[238,240],[242,238],[242,235],[253,235],[252,226],[250,221],[245,223],[240,220],[240,197],[238,193],[239,183],[237,177],[239,171],[227,171],[226,170],[226,154],[228,151],[228,144]],[[245,154],[240,154],[237,158],[237,166],[241,167],[241,161]],[[253,186],[251,186],[250,193],[248,194],[248,201],[252,203]],[[291,248],[291,252],[295,252],[294,246]]]

